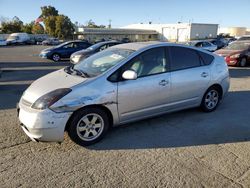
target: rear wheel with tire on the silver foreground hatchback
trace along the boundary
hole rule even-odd
[[[204,112],[214,111],[221,100],[221,91],[217,87],[210,87],[204,94],[201,101],[201,109]]]

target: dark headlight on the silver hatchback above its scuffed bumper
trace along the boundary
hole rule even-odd
[[[31,107],[37,110],[44,110],[49,108],[71,91],[72,90],[69,88],[56,89],[38,98]]]

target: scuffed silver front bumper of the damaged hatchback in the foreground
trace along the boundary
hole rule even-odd
[[[70,113],[55,113],[49,109],[34,110],[19,105],[18,118],[25,134],[33,141],[62,142]]]

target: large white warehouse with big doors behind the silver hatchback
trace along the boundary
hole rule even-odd
[[[159,40],[185,42],[189,40],[216,38],[218,24],[178,23],[178,24],[132,24],[122,28],[155,30]]]

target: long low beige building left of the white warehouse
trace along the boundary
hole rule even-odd
[[[118,29],[118,28],[78,28],[74,38],[85,39],[90,42],[100,40],[126,40],[131,42],[158,40],[158,33],[154,30]]]

